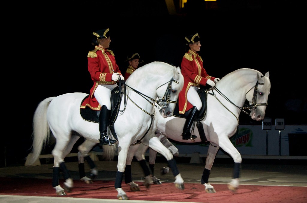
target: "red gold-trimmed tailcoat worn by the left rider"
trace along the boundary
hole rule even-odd
[[[90,96],[83,101],[80,108],[88,106],[93,110],[100,111],[101,106],[94,96],[95,89],[99,84],[115,84],[116,82],[112,80],[112,74],[119,72],[121,75],[121,72],[116,64],[114,53],[99,46],[95,46],[94,50],[88,52],[87,61],[87,69],[94,85],[90,90]]]

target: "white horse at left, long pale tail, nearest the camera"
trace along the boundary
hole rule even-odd
[[[118,199],[129,199],[122,190],[122,178],[127,154],[134,154],[140,146],[136,143],[140,142],[165,156],[173,170],[175,186],[184,189],[183,179],[173,154],[155,136],[157,128],[155,117],[161,115],[167,118],[173,115],[183,83],[179,67],[163,62],[152,62],[138,68],[122,88],[125,92],[122,94],[119,113],[113,125],[115,136],[111,133],[112,130],[108,129],[109,136],[118,140],[118,171],[115,179]],[[79,136],[83,136],[85,141],[78,147],[80,152],[78,154],[87,160],[90,160],[88,152],[99,142],[98,123],[85,120],[80,115],[80,105],[86,96],[88,94],[75,92],[49,97],[39,103],[34,113],[33,155],[27,160],[28,165],[32,165],[39,158],[42,146],[49,139],[51,130],[56,138],[56,145],[52,150],[54,156],[52,187],[56,189],[58,195],[66,194],[59,185],[60,170],[63,171],[65,190],[69,192],[73,187],[73,180],[65,166],[64,158]],[[160,113],[156,113],[155,107]],[[116,145],[104,146],[104,152],[110,153],[109,157],[114,156],[115,150],[117,150]]]

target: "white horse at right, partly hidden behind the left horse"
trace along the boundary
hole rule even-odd
[[[250,112],[252,119],[260,121],[264,119],[268,96],[270,94],[269,72],[264,76],[257,70],[241,68],[224,76],[216,87],[206,91],[207,108],[206,114],[199,119],[205,138],[202,137],[197,127],[192,126],[192,134],[197,138],[182,140],[181,134],[185,123],[185,118],[174,115],[166,119],[157,115],[158,127],[157,136],[160,140],[165,138],[177,142],[191,143],[208,141],[206,165],[201,178],[201,183],[205,186],[207,193],[215,193],[215,189],[208,182],[210,170],[212,168],[216,154],[221,147],[234,160],[234,176],[228,184],[228,189],[235,192],[239,188],[241,154],[231,143],[230,137],[235,134],[239,125],[239,114],[243,109]],[[244,107],[244,102],[248,101],[250,106]],[[245,113],[247,113],[245,111]],[[195,123],[194,123],[195,125]],[[142,159],[147,146],[140,146],[134,154],[137,160]],[[157,152],[150,150],[149,160],[156,157]],[[151,161],[153,162],[153,161]]]

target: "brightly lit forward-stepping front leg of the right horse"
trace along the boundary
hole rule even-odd
[[[233,170],[233,178],[231,182],[228,183],[228,189],[232,192],[236,192],[239,188],[240,182],[240,168],[242,163],[242,157],[239,151],[233,146],[229,139],[224,140],[224,142],[220,143],[220,147],[227,152],[234,160],[234,170]]]

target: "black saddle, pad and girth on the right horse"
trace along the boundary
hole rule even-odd
[[[206,113],[207,113],[208,92],[207,92],[206,89],[200,88],[199,90],[197,90],[197,93],[198,93],[200,100],[201,100],[201,103],[203,105],[202,105],[198,115],[196,115],[194,122],[196,122],[196,127],[198,129],[201,141],[208,142],[208,140],[205,136],[203,124],[200,122],[202,119],[204,119],[204,117],[206,116]],[[191,110],[192,109],[185,111],[185,114],[179,114],[179,107],[178,107],[178,105],[176,105],[173,116],[186,119]],[[194,129],[194,127],[193,127],[193,129]]]

